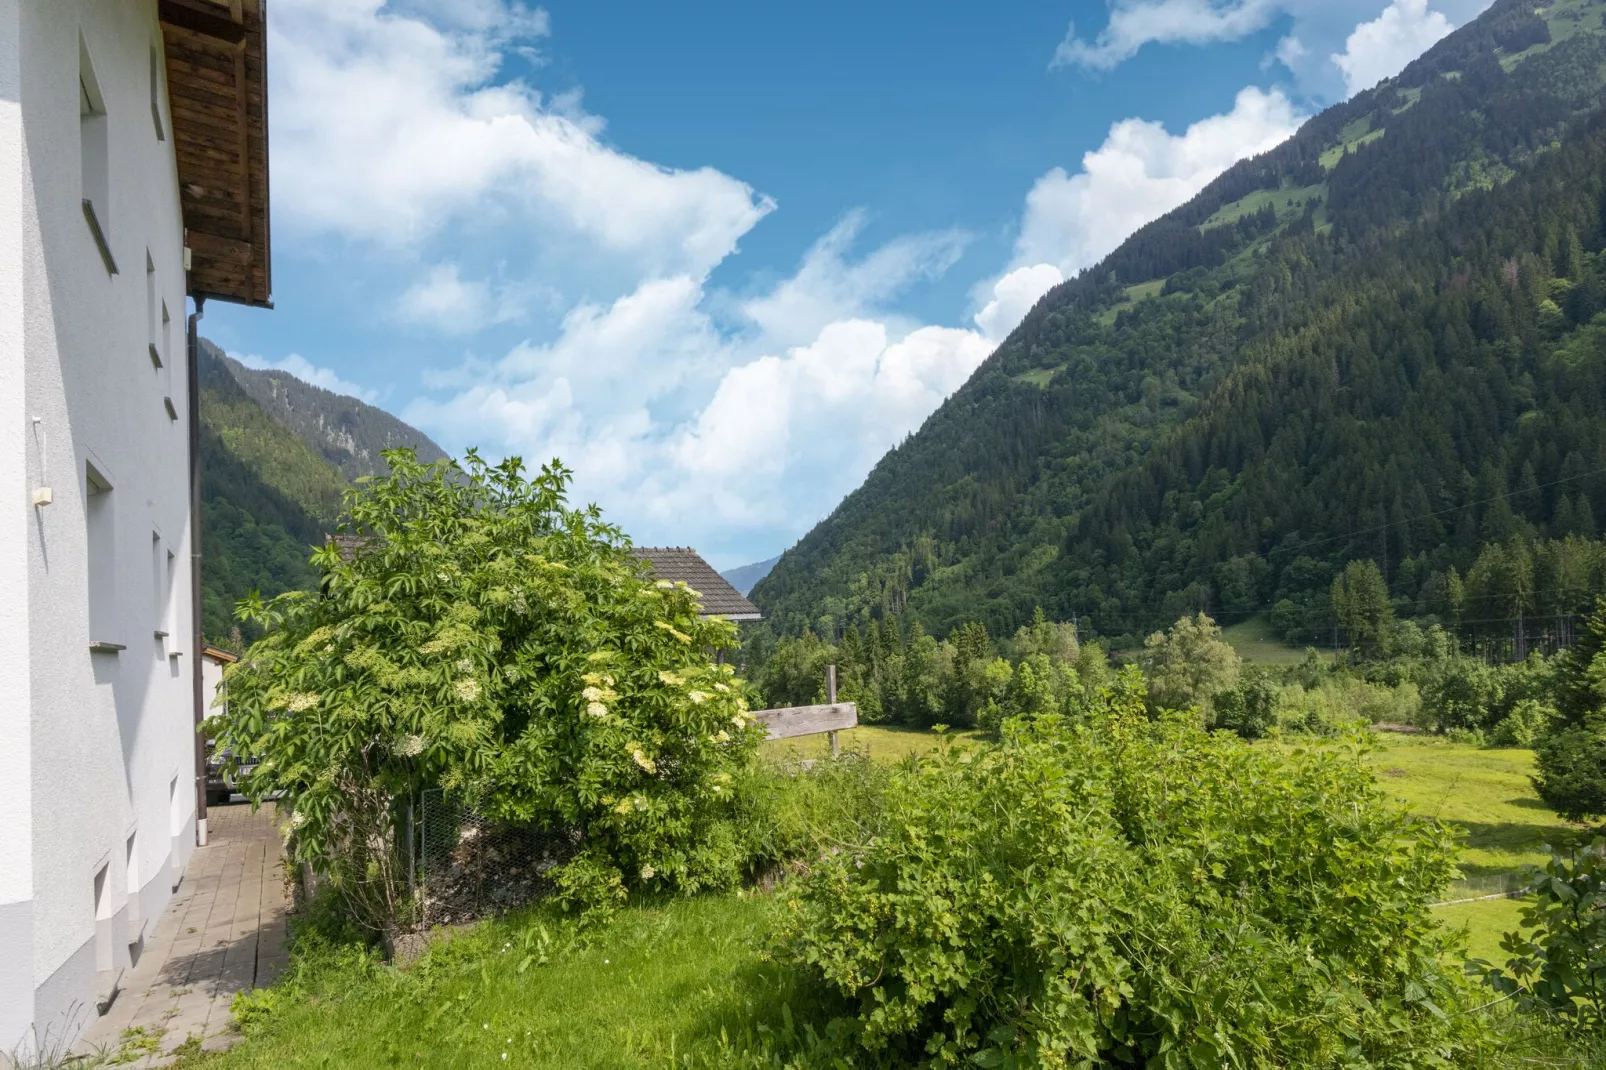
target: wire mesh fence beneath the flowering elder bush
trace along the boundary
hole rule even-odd
[[[424,927],[456,925],[533,903],[575,837],[548,826],[493,821],[440,789],[422,792],[414,880]]]

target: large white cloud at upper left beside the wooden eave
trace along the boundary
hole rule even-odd
[[[273,182],[291,223],[395,244],[503,210],[646,272],[700,273],[774,207],[710,167],[610,148],[573,98],[496,80],[546,32],[544,14],[503,0],[429,14],[382,0],[275,5]]]

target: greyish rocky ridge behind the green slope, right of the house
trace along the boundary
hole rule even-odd
[[[379,455],[397,447],[413,447],[421,461],[446,456],[429,435],[382,408],[302,382],[286,371],[247,368],[210,342],[206,345],[247,397],[316,450],[345,479],[384,472],[385,463]]]

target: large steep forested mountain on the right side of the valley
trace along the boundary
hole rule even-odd
[[[1425,606],[1487,546],[1593,535],[1603,11],[1498,0],[1054,289],[758,583],[771,627],[1301,638],[1346,561]],[[1588,593],[1513,583],[1518,615]]]

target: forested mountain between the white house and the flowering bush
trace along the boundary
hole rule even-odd
[[[443,455],[389,413],[286,373],[252,371],[206,339],[199,371],[201,630],[228,644],[234,604],[251,591],[316,583],[307,556],[334,530],[347,480],[384,464],[379,448],[418,443],[419,456]]]

